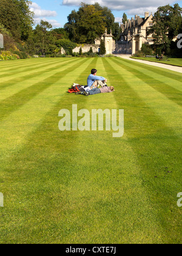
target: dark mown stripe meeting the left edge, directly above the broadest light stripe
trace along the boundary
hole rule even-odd
[[[88,59],[81,60],[79,65],[87,62]],[[75,63],[75,61],[73,62]],[[18,93],[14,94],[13,96],[4,99],[0,102],[0,120],[5,118],[5,116],[10,115],[10,113],[18,110],[22,105],[29,102],[30,99],[36,96],[36,94],[41,93],[45,89],[51,87],[53,83],[60,80],[62,77],[66,76],[68,73],[71,73],[75,68],[78,68],[78,60],[76,60],[76,64],[70,66],[67,69],[63,69],[53,76],[49,76],[48,78],[38,82],[24,90],[19,91]]]

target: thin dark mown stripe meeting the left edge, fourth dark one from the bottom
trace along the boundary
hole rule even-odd
[[[60,61],[57,60],[56,63],[60,63],[60,62],[66,62],[66,61]],[[5,75],[7,75],[8,77],[11,76],[15,76],[15,74],[21,74],[24,73],[26,71],[33,71],[34,69],[39,69],[39,68],[44,68],[46,66],[48,66],[49,64],[52,64],[53,61],[49,61],[49,62],[41,62],[41,63],[29,63],[29,65],[21,65],[21,66],[13,66],[13,68],[7,69],[6,71],[0,73],[0,82],[1,82],[1,77],[4,77]],[[22,63],[23,64],[23,63]],[[19,69],[21,69],[21,71],[19,71]]]

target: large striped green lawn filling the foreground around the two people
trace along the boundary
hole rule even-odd
[[[68,94],[92,68],[115,93]],[[0,70],[0,243],[181,243],[182,74],[116,57]],[[124,109],[124,136],[61,132],[72,104]]]

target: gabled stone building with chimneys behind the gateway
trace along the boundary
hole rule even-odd
[[[135,15],[135,18],[121,25],[121,39],[116,42],[116,54],[136,54],[141,50],[143,43],[153,44],[152,35],[147,35],[147,29],[153,25],[153,15],[145,12],[144,18]]]

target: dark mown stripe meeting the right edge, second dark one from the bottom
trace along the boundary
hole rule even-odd
[[[132,68],[132,66],[123,65],[123,63],[118,62],[116,59],[112,59],[114,63],[121,66],[123,69],[126,69],[130,73],[134,74],[138,79],[145,82],[150,87],[154,88],[155,90],[159,91],[160,93],[164,94],[168,99],[171,101],[174,101],[176,104],[181,105],[182,104],[182,92],[175,89],[174,87],[170,87],[170,85],[167,85],[160,80],[155,79],[152,76],[147,75],[145,72],[139,71],[136,68]],[[132,63],[131,63],[132,65]],[[144,67],[143,67],[144,68]],[[151,70],[150,70],[151,71]],[[155,76],[155,74],[153,74]],[[164,76],[163,74],[161,76]]]

